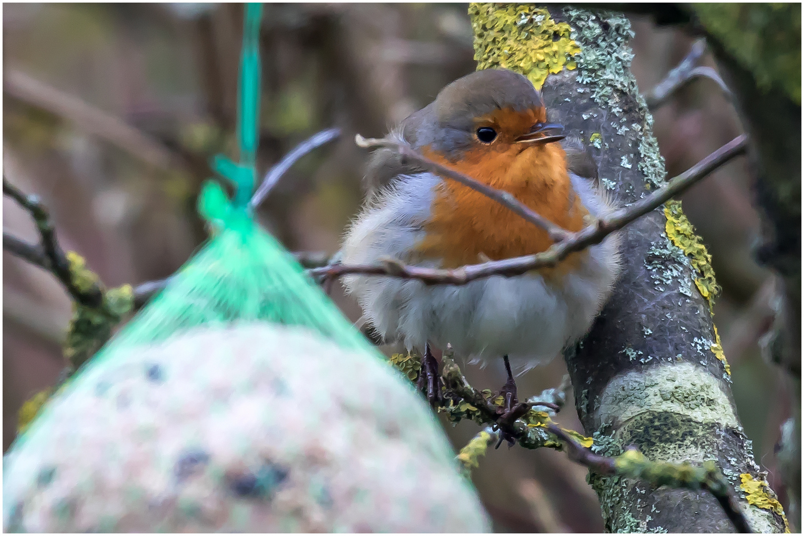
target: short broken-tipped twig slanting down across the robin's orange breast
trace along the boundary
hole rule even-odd
[[[440,163],[433,162],[433,160],[420,155],[418,152],[416,152],[416,150],[413,150],[411,146],[408,146],[405,143],[396,142],[388,138],[366,139],[360,134],[355,136],[355,142],[361,147],[388,147],[389,149],[396,150],[396,152],[398,152],[404,158],[413,160],[427,171],[432,171],[437,175],[445,177],[445,179],[452,179],[463,184],[467,188],[473,189],[475,192],[482,193],[489,199],[497,201],[505,208],[508,208],[512,212],[515,212],[515,214],[522,216],[527,221],[530,221],[532,224],[538,225],[547,231],[551,240],[554,242],[564,240],[569,234],[569,231],[566,229],[561,229],[559,225],[556,225],[544,216],[533,212],[531,208],[527,207],[526,204],[521,203],[518,199],[512,196],[511,193],[504,190],[498,190],[497,188],[491,188],[487,184],[483,184],[478,180],[472,179],[468,175],[464,175],[463,173],[455,171],[450,167],[443,166]]]

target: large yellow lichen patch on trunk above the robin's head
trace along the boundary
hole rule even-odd
[[[503,67],[520,72],[541,89],[548,74],[576,68],[580,52],[572,28],[557,23],[548,10],[530,4],[472,3],[474,59],[478,71]]]

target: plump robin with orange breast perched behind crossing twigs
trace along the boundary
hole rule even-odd
[[[388,136],[510,192],[574,232],[613,205],[597,189],[593,159],[577,140],[565,141],[565,150],[560,130],[548,123],[544,101],[527,78],[490,69],[447,85]],[[364,185],[366,203],[344,239],[346,264],[395,258],[453,268],[536,254],[552,245],[544,229],[387,148],[372,155]],[[433,348],[451,344],[470,362],[503,358],[508,381],[501,392],[511,410],[518,402],[515,372],[552,360],[585,336],[619,270],[619,239],[610,235],[556,266],[515,277],[460,286],[361,275],[343,282],[384,340],[423,353],[431,404],[441,396],[433,380],[438,366]]]

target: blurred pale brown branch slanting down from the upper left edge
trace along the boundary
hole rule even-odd
[[[184,167],[184,160],[157,139],[24,72],[6,72],[3,76],[3,93],[55,113],[156,167]]]

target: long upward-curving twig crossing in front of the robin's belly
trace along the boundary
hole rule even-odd
[[[584,229],[580,229],[577,233],[570,233],[566,240],[552,245],[550,249],[539,254],[470,264],[446,270],[408,266],[394,259],[384,259],[375,265],[338,264],[315,268],[309,270],[309,272],[314,277],[325,275],[340,277],[346,274],[390,275],[396,278],[418,279],[426,284],[465,285],[470,281],[474,281],[474,279],[491,275],[514,276],[525,274],[537,268],[556,266],[564,258],[567,258],[569,254],[585,249],[589,245],[600,243],[609,234],[622,229],[638,217],[653,211],[671,199],[671,197],[686,191],[687,188],[690,188],[700,179],[724,165],[724,163],[729,162],[736,156],[745,154],[747,147],[748,142],[745,134],[734,138],[731,142],[696,163],[695,166],[671,179],[664,188],[654,191],[650,196],[638,200],[629,207],[619,208],[611,212],[608,216],[598,219]]]

